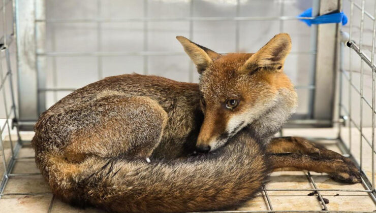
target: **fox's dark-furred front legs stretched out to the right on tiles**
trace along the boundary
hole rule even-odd
[[[359,169],[350,159],[301,137],[273,138],[267,153],[273,170],[326,172],[337,182],[361,182]]]

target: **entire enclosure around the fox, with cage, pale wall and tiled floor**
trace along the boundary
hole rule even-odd
[[[299,108],[280,134],[298,133],[350,157],[362,184],[327,184],[327,175],[314,172],[275,172],[256,201],[238,211],[376,210],[374,1],[2,0],[0,6],[0,206],[17,210],[12,199],[38,197],[41,212],[56,211],[48,189],[29,187],[43,179],[27,167],[34,165],[29,131],[60,98],[127,73],[197,83],[176,35],[228,53],[256,52],[287,32],[293,49],[285,72]],[[343,11],[349,21],[308,27],[297,17],[308,8],[313,16]]]

